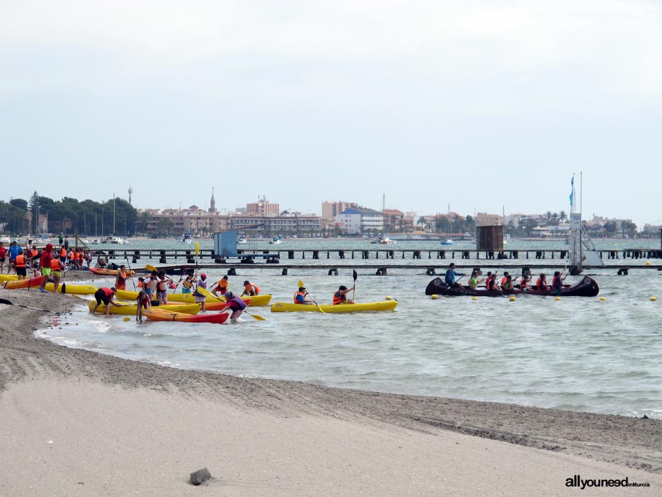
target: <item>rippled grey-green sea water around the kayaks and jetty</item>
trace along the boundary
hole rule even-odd
[[[659,240],[606,240],[599,249],[659,249]],[[110,248],[110,246],[106,246]],[[182,248],[176,242],[147,240],[126,248]],[[278,249],[374,249],[368,241],[285,240]],[[563,242],[508,240],[505,249],[564,249]],[[117,249],[120,247],[117,246]],[[201,242],[212,248],[212,242]],[[261,242],[259,249],[275,248]],[[441,248],[439,242],[397,242],[392,249]],[[469,249],[456,242],[449,249]],[[300,256],[291,261],[301,264]],[[322,257],[322,256],[321,256]],[[360,257],[360,255],[357,255]],[[447,256],[448,257],[448,256]],[[394,264],[425,264],[393,260]],[[628,260],[633,262],[632,260]],[[119,263],[119,260],[117,261]],[[205,260],[208,263],[209,260]],[[283,260],[283,264],[288,262]],[[306,263],[328,264],[325,255]],[[377,261],[346,259],[345,264]],[[383,261],[385,262],[385,261]],[[428,261],[430,262],[430,261]],[[448,264],[450,260],[432,260]],[[462,263],[459,258],[455,262]],[[473,264],[475,261],[464,261]],[[484,262],[484,261],[483,261]],[[496,261],[491,261],[496,262]],[[504,261],[504,264],[525,261]],[[530,264],[540,264],[530,260]],[[565,262],[548,260],[550,269]],[[612,266],[622,260],[605,261]],[[392,313],[271,313],[268,307],[249,308],[263,315],[257,321],[230,325],[125,322],[121,316],[90,315],[81,305],[73,316],[49,318],[37,331],[68,347],[90,349],[122,358],[204,369],[237,376],[299,380],[333,387],[514,402],[573,411],[662,418],[662,273],[655,267],[585,271],[600,285],[597,298],[432,299],[425,286],[432,276],[420,269],[389,269],[374,275],[359,269],[354,298],[359,302],[397,299]],[[155,264],[141,260],[141,264]],[[477,262],[479,265],[480,262]],[[638,261],[645,264],[645,260]],[[218,280],[227,268],[207,271]],[[548,271],[549,272],[549,271]],[[239,291],[248,277],[272,293],[272,302],[291,302],[298,280],[319,302],[330,303],[338,286],[352,286],[351,269],[328,276],[322,269],[279,267],[237,268],[230,289]],[[572,283],[579,277],[568,277]],[[101,285],[103,282],[97,281]],[[112,280],[108,280],[108,286]],[[654,302],[650,298],[659,297]],[[605,300],[600,300],[604,297]]]

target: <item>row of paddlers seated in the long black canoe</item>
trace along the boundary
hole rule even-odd
[[[516,287],[516,280],[517,276],[513,276],[508,271],[503,272],[503,277],[501,277],[501,281],[497,280],[497,271],[488,271],[488,274],[485,278],[479,280],[479,271],[475,270],[472,271],[471,276],[469,278],[469,289],[470,290],[501,290],[503,294],[508,294],[512,293],[512,291]],[[465,286],[460,284],[458,282],[459,278],[464,276],[462,273],[456,273],[455,272],[455,263],[451,262],[450,265],[448,266],[448,270],[446,270],[446,274],[444,277],[444,282],[448,286],[458,289],[459,291],[465,290]],[[554,271],[554,276],[552,277],[552,284],[548,284],[547,282],[547,275],[545,273],[540,273],[539,277],[536,279],[536,284],[534,286],[531,285],[532,282],[532,276],[530,271],[525,271],[525,273],[521,276],[521,280],[517,284],[519,288],[526,292],[530,288],[535,288],[536,290],[545,290],[549,291],[550,289],[553,289],[556,293],[556,295],[561,295],[561,289],[563,289],[563,281],[568,275],[563,275],[561,271]],[[479,285],[485,282],[484,286],[479,287]]]

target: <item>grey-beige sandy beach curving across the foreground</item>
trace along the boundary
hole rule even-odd
[[[35,338],[47,315],[0,305],[0,497],[662,495],[660,420],[183,371]]]

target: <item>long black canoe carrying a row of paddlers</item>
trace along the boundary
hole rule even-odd
[[[584,276],[579,283],[574,285],[564,285],[561,289],[561,297],[595,297],[600,292],[598,284],[592,278]],[[428,284],[425,289],[425,295],[445,295],[447,297],[459,297],[460,295],[470,295],[476,297],[502,297],[509,295],[559,295],[556,290],[538,290],[536,286],[530,286],[527,291],[522,291],[516,286],[511,291],[486,290],[484,286],[472,290],[468,286],[463,289],[450,287],[441,277],[436,277]]]

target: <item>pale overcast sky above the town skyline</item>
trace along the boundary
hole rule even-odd
[[[5,200],[643,228],[661,135],[661,1],[0,0]]]

